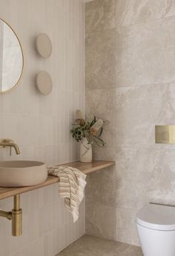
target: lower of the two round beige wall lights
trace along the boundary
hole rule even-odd
[[[53,82],[50,74],[46,71],[39,72],[36,76],[36,87],[43,95],[50,94],[53,88]]]

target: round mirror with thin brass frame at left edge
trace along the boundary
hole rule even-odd
[[[0,19],[0,93],[11,90],[22,76],[24,56],[16,33]]]

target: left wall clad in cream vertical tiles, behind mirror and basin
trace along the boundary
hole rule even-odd
[[[78,160],[78,145],[70,137],[77,108],[84,111],[84,4],[81,0],[0,0],[0,18],[19,36],[24,73],[19,85],[0,95],[0,137],[11,138],[21,154],[0,148],[0,160],[37,160],[47,165]],[[35,50],[39,33],[53,42],[50,59]],[[35,76],[47,70],[53,92],[42,96]],[[13,199],[1,200],[11,210]],[[58,185],[22,194],[23,234],[11,236],[11,223],[0,218],[0,256],[54,256],[85,233],[85,206],[73,224],[59,199]]]

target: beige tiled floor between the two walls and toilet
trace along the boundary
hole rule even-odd
[[[142,256],[137,246],[84,235],[56,256]]]

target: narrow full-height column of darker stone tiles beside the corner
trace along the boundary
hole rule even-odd
[[[93,148],[96,160],[115,160],[116,30],[114,1],[85,4],[86,115],[105,120],[105,148]],[[86,232],[116,240],[116,168],[87,177]]]

